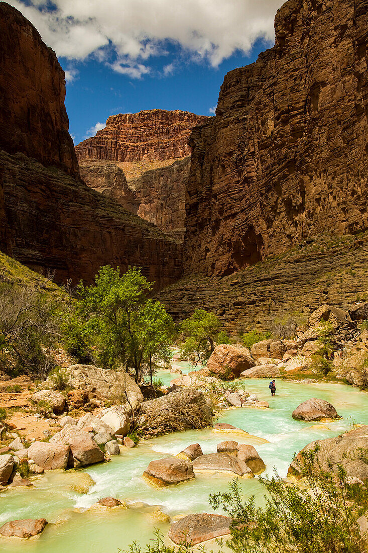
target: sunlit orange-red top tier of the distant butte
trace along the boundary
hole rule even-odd
[[[186,111],[149,109],[109,117],[106,127],[75,148],[79,161],[156,161],[190,154],[192,128],[207,117]]]

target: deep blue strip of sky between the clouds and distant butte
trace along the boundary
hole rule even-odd
[[[213,115],[224,75],[235,67],[255,61],[265,47],[264,41],[257,41],[247,56],[238,52],[218,67],[206,61],[187,62],[167,76],[162,75],[162,60],[158,58],[153,61],[152,74],[141,79],[120,75],[96,60],[77,64],[78,73],[66,85],[65,100],[75,144],[87,135],[94,135],[98,123],[104,126],[106,119],[116,113],[162,108]],[[172,52],[174,60],[176,55],[180,56],[175,50]],[[68,60],[60,58],[59,61],[63,68],[69,66]]]

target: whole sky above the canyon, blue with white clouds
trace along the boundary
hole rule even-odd
[[[282,0],[8,0],[55,50],[77,144],[115,113],[212,114],[224,75],[274,43]]]

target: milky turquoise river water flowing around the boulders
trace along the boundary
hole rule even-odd
[[[185,374],[188,363],[180,363]],[[159,371],[157,377],[169,383],[177,375]],[[270,409],[230,409],[219,420],[262,437],[244,439],[235,434],[215,434],[211,429],[171,434],[141,442],[124,450],[109,463],[87,467],[84,471],[54,471],[34,481],[30,489],[13,488],[0,494],[0,524],[22,518],[46,518],[43,534],[31,540],[0,539],[0,551],[6,553],[117,553],[127,549],[133,540],[144,545],[154,528],[167,534],[169,523],[156,519],[157,507],[171,518],[193,512],[211,512],[208,503],[213,492],[227,489],[231,478],[202,474],[194,481],[170,488],[154,489],[141,475],[148,463],[168,454],[176,454],[194,442],[204,453],[216,451],[223,440],[253,444],[271,474],[276,467],[286,476],[293,453],[315,439],[332,437],[348,430],[351,422],[368,424],[368,394],[341,384],[299,384],[277,381],[277,395],[270,397],[268,380],[246,380],[244,389],[266,399]],[[292,411],[311,397],[326,399],[343,417],[335,422],[317,424],[295,421]],[[95,484],[88,493],[80,493],[76,484],[85,484],[89,474]],[[261,502],[263,490],[257,477],[240,479],[245,496],[254,494]],[[99,498],[112,495],[124,500],[129,509],[92,508]],[[139,503],[140,502],[140,503]],[[144,504],[150,505],[147,507]],[[155,513],[156,512],[156,513]]]

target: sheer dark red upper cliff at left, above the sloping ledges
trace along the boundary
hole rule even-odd
[[[0,2],[0,67],[0,149],[78,178],[64,71],[33,25],[5,2]]]

